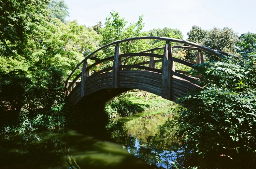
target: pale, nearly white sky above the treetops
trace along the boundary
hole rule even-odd
[[[210,30],[232,28],[242,33],[256,33],[256,0],[64,0],[69,7],[68,20],[93,26],[104,24],[111,11],[119,12],[128,23],[143,15],[144,30],[173,28],[183,39],[193,25]]]

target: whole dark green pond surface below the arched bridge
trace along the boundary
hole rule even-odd
[[[107,124],[1,136],[1,169],[168,168],[178,143],[169,136],[170,108]]]

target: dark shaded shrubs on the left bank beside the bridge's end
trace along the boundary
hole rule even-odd
[[[64,126],[62,70],[50,67],[28,77],[9,74],[0,79],[0,84],[0,127],[5,126],[2,131]]]

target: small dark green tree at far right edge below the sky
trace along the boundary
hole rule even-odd
[[[256,33],[244,33],[240,37],[238,52],[242,54],[256,51]]]

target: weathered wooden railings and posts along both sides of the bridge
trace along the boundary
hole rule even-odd
[[[119,43],[133,41],[133,40],[140,40],[140,39],[157,39],[157,40],[166,41],[166,44],[164,45],[164,47],[149,49],[149,50],[143,51],[141,53],[121,54]],[[183,44],[187,44],[187,45],[191,45],[191,46],[171,46],[170,42],[178,42],[178,43],[183,43]],[[92,65],[88,66],[87,59],[89,59],[93,54],[97,53],[98,51],[100,51],[104,48],[107,48],[108,46],[111,46],[111,45],[115,45],[114,56],[110,56],[110,57],[101,59],[101,60],[93,63]],[[173,48],[198,50],[196,62],[182,60],[182,59],[173,57],[172,56]],[[154,54],[154,51],[161,50],[161,49],[164,49],[163,55]],[[177,76],[179,78],[183,78],[192,83],[196,83],[195,78],[185,75],[187,72],[181,71],[181,70],[175,70],[175,66],[174,66],[175,62],[192,67],[192,68],[196,68],[194,66],[194,64],[202,63],[204,61],[203,54],[201,51],[206,51],[206,52],[214,54],[216,56],[220,56],[220,55],[229,56],[230,55],[230,54],[227,54],[224,52],[212,50],[210,48],[207,48],[205,46],[202,46],[202,45],[199,45],[199,44],[196,44],[193,42],[188,42],[188,41],[178,40],[178,39],[173,39],[173,38],[165,38],[165,37],[154,37],[154,36],[136,37],[136,38],[129,38],[129,39],[112,42],[112,43],[109,43],[109,44],[97,49],[96,51],[94,51],[91,54],[89,54],[88,56],[86,56],[85,59],[83,59],[75,67],[75,69],[71,72],[71,74],[65,81],[65,94],[68,95],[71,92],[72,88],[75,87],[74,85],[77,85],[78,79],[81,77],[81,82],[79,83],[79,85],[81,85],[81,97],[85,96],[86,95],[86,81],[89,80],[90,78],[93,78],[94,76],[97,76],[101,73],[109,72],[109,71],[113,72],[112,73],[112,87],[118,88],[119,87],[120,71],[125,71],[125,70],[130,70],[132,68],[135,68],[135,69],[143,69],[143,70],[147,70],[147,71],[161,73],[162,74],[162,97],[170,100],[170,97],[171,97],[171,89],[170,88],[171,88],[171,84],[172,84],[171,78],[173,76]],[[151,53],[147,53],[147,52],[151,52]],[[146,56],[146,57],[150,57],[150,59],[149,59],[149,61],[137,63],[134,65],[122,65],[122,62],[124,62],[134,56]],[[121,58],[124,58],[124,59],[121,60]],[[158,58],[158,59],[155,60],[155,58]],[[97,65],[99,65],[103,62],[109,61],[109,60],[113,60],[113,66],[107,67],[107,68],[102,69],[96,73],[93,73],[91,76],[89,75],[89,70],[92,67],[97,66]],[[155,64],[158,62],[162,62],[161,69],[155,68],[156,67]],[[82,64],[83,64],[82,72],[76,78],[74,78],[74,80],[72,82],[70,82],[69,79],[71,78],[73,73],[78,69],[78,67],[81,66]],[[149,64],[149,66],[141,66],[141,65],[145,65],[145,64]]]

